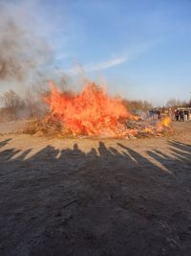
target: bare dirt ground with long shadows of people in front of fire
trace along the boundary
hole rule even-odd
[[[0,255],[191,255],[191,123],[173,127],[135,140],[2,134]]]

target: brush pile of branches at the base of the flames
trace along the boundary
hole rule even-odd
[[[116,137],[116,138],[143,138],[143,137],[160,137],[165,134],[170,134],[172,128],[170,128],[169,118],[165,117],[159,121],[147,121],[147,120],[128,120],[125,122],[126,133],[124,133],[124,123],[122,128],[118,130],[116,136],[109,136],[108,134],[102,135],[88,135],[77,134],[66,130],[63,123],[54,115],[46,116],[43,119],[35,119],[27,124],[24,132],[35,136],[54,136],[54,137]],[[120,133],[121,131],[121,133]]]

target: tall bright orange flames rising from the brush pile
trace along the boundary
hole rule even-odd
[[[119,97],[109,97],[94,82],[87,81],[80,93],[60,93],[50,82],[51,94],[45,101],[53,116],[63,124],[64,133],[124,137],[136,135],[128,129],[127,120],[135,120]]]

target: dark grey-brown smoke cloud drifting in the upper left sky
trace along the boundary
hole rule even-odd
[[[13,13],[13,14],[12,14]],[[30,15],[19,8],[0,6],[0,80],[23,81],[32,71],[53,61],[46,39],[32,28]],[[27,17],[28,16],[28,17]]]

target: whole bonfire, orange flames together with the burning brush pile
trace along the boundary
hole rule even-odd
[[[111,97],[92,81],[86,81],[79,93],[61,93],[49,83],[51,92],[43,100],[49,113],[35,120],[27,132],[37,135],[53,134],[67,137],[136,138],[159,135],[169,130],[169,117],[159,122],[141,120],[131,114],[120,97]]]

